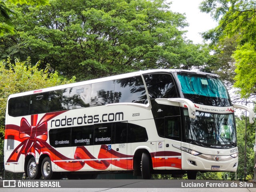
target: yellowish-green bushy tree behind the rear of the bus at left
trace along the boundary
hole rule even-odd
[[[60,84],[73,83],[75,77],[66,80],[58,75],[57,71],[51,73],[50,65],[38,70],[40,61],[32,66],[30,58],[26,61],[10,59],[0,61],[0,148],[3,147],[5,112],[7,99],[10,94],[20,93]]]

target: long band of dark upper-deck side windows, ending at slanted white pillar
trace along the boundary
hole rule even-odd
[[[13,97],[8,101],[8,114],[12,117],[19,117],[111,103],[147,104],[142,77],[113,79]]]

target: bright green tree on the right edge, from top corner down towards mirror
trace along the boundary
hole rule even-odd
[[[236,63],[235,87],[242,97],[255,97],[255,55],[256,55],[256,2],[253,0],[204,0],[200,9],[211,13],[218,26],[203,34],[218,46],[226,38],[236,39],[236,50],[232,57]]]

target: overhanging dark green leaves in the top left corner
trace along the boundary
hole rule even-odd
[[[13,4],[28,4],[28,5],[48,5],[48,0],[8,0]],[[0,0],[0,36],[11,33],[14,34],[10,15],[15,14],[12,10],[6,7],[4,0]]]

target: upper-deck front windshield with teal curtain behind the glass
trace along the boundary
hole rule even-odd
[[[228,92],[217,77],[184,73],[177,76],[184,98],[201,105],[231,106]]]

